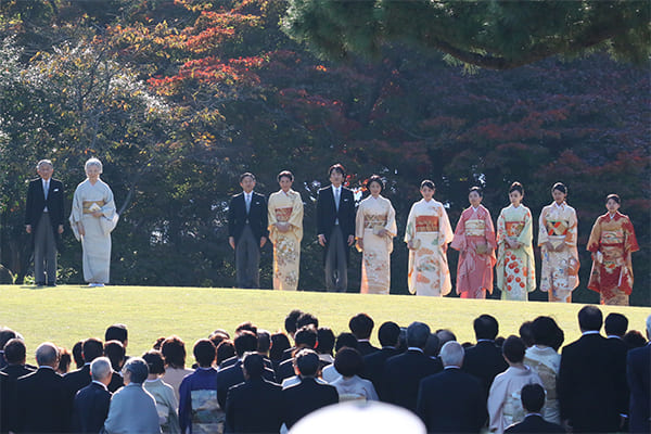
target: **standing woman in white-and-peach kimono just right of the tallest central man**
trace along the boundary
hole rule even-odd
[[[362,294],[388,294],[391,284],[391,253],[397,233],[396,212],[388,199],[380,195],[384,182],[373,175],[366,183],[371,194],[359,203],[355,219],[357,250],[361,258]]]

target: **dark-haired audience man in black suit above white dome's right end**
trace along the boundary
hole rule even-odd
[[[425,376],[443,370],[438,360],[425,356],[423,348],[430,336],[430,327],[412,322],[407,328],[407,352],[384,363],[384,399],[416,412],[418,388]]]

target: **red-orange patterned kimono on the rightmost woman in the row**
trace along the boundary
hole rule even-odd
[[[633,291],[630,254],[639,250],[627,216],[617,212],[597,218],[588,240],[593,258],[588,289],[601,294],[601,304],[628,306]]]

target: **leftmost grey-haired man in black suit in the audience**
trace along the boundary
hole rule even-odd
[[[36,348],[38,370],[16,381],[16,433],[62,433],[69,427],[69,399],[63,378],[54,369],[59,348],[51,343]]]

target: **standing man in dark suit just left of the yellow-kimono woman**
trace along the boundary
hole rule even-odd
[[[238,286],[260,288],[260,248],[269,238],[267,201],[253,191],[253,174],[242,174],[240,187],[242,193],[228,207],[228,243],[235,251]]]

